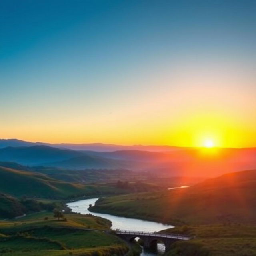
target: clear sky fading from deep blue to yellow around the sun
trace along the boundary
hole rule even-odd
[[[0,138],[256,146],[255,0],[0,1]]]

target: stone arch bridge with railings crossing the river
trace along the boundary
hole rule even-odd
[[[157,245],[157,241],[160,240],[165,245],[165,250],[168,251],[173,242],[180,240],[190,240],[192,237],[183,236],[179,234],[164,234],[156,232],[144,232],[144,231],[130,231],[130,230],[116,230],[116,234],[126,240],[132,242],[136,237],[143,240],[143,246],[146,248],[152,248]]]

